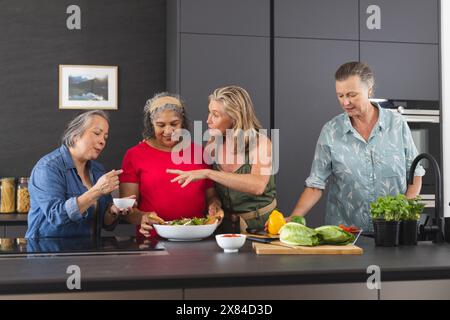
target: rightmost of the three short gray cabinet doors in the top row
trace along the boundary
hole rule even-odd
[[[360,40],[438,43],[438,37],[438,0],[360,0]]]

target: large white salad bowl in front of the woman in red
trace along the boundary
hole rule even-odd
[[[156,233],[172,241],[196,241],[209,237],[216,230],[218,224],[204,224],[194,226],[154,224]]]

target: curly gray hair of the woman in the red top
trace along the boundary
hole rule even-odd
[[[157,108],[155,108],[154,103],[156,100],[163,97],[172,97],[179,101],[179,105],[166,103]],[[144,131],[142,132],[142,137],[144,139],[155,138],[155,127],[153,126],[153,121],[156,119],[157,115],[163,111],[174,111],[181,119],[181,128],[189,129],[189,120],[186,116],[184,101],[179,95],[170,94],[168,92],[157,93],[153,98],[148,99],[144,106]]]

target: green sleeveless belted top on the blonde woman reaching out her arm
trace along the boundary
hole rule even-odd
[[[213,164],[213,169],[222,171],[217,163]],[[252,170],[252,165],[249,161],[248,151],[245,152],[245,163],[239,167],[234,173],[249,174]],[[272,203],[276,197],[275,177],[270,176],[266,189],[261,195],[252,195],[249,193],[236,191],[230,189],[219,183],[215,183],[217,194],[222,200],[222,209],[226,213],[244,213],[255,211]]]

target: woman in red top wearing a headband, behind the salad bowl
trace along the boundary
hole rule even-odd
[[[185,188],[187,190],[170,182],[171,177],[166,170],[173,166],[180,170],[208,168],[203,160],[195,161],[198,155],[203,155],[201,146],[186,145],[176,138],[176,130],[186,127],[181,100],[168,93],[157,94],[144,107],[144,140],[128,149],[123,159],[120,195],[137,197],[138,208],[127,216],[127,220],[140,224],[139,231],[144,236],[154,235],[151,225],[157,222],[158,217],[175,220],[203,217],[205,213],[223,216],[211,180],[192,183]],[[181,163],[177,161],[180,158],[183,159]],[[153,213],[157,217],[149,218],[144,213]]]

